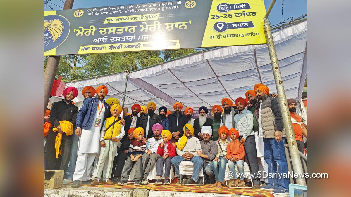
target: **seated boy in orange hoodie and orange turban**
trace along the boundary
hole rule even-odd
[[[227,158],[229,159],[228,168],[232,172],[235,183],[233,183],[233,181],[231,180],[231,184],[228,183],[228,186],[246,187],[244,181],[244,145],[239,143],[239,132],[236,129],[231,128],[229,130],[229,136],[230,138],[232,138],[232,142],[230,142],[227,146]],[[235,171],[235,165],[237,165],[238,167],[240,182]]]

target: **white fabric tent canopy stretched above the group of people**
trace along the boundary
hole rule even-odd
[[[300,99],[307,74],[307,21],[273,32],[286,97]],[[126,74],[108,74],[67,82],[67,86],[82,90],[85,86],[105,85],[108,95],[122,104]],[[276,93],[267,45],[231,46],[207,50],[152,67],[136,70],[129,75],[125,107],[134,103],[173,109],[175,102],[185,107],[208,108],[220,104],[224,97],[233,101],[245,97],[257,83]],[[81,94],[75,101],[83,100]]]

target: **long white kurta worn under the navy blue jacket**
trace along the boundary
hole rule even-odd
[[[103,101],[99,102],[100,109],[102,108]],[[104,124],[104,114],[105,114],[105,107],[101,110],[99,115],[98,108],[95,112],[95,117],[93,118],[93,123],[90,129],[82,129],[82,135],[79,137],[78,142],[78,154],[79,153],[97,153],[100,152],[100,129]],[[101,119],[100,127],[95,127],[94,123],[96,118]]]

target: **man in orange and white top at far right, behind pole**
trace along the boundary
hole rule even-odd
[[[289,106],[292,128],[294,129],[297,148],[300,152],[305,154],[305,145],[304,141],[302,140],[302,135],[307,138],[307,129],[305,128],[304,123],[301,121],[301,117],[296,114],[296,100],[288,99],[287,104]]]

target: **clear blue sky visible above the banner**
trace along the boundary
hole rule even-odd
[[[45,0],[48,1],[48,0]],[[78,8],[88,8],[88,7],[104,7],[104,6],[116,6],[116,5],[126,5],[126,4],[143,4],[143,3],[152,3],[152,2],[162,2],[165,0],[74,0],[73,9]],[[54,10],[62,10],[64,7],[65,0],[50,0],[48,5]],[[225,0],[223,1],[225,2]],[[271,4],[271,0],[265,0],[266,10]],[[282,22],[282,2],[284,2],[283,15],[284,20],[293,17],[297,18],[298,16],[307,14],[307,0],[277,0],[274,4],[272,12],[269,16],[269,21],[271,25]],[[47,7],[47,11],[52,10],[50,7]]]

